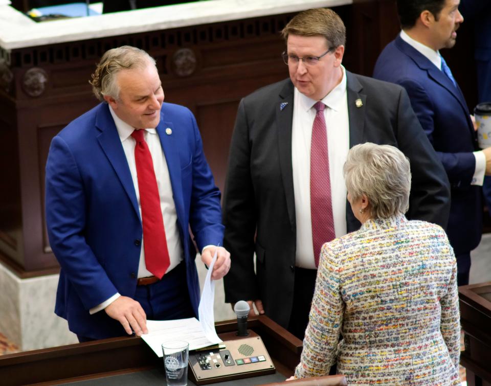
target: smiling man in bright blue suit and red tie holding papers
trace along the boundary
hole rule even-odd
[[[81,342],[147,332],[146,319],[197,315],[197,247],[222,243],[220,192],[192,113],[163,103],[155,61],[106,52],[101,104],[61,130],[46,165],[46,219],[61,271],[55,312]],[[212,278],[230,268],[218,247]]]

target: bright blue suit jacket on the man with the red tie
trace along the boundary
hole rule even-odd
[[[166,134],[166,128],[172,133]],[[172,184],[191,304],[197,314],[196,249],[222,242],[220,192],[187,108],[164,103],[157,126]],[[55,312],[70,330],[123,335],[119,322],[91,308],[116,292],[134,297],[142,239],[135,187],[108,105],[99,104],[53,138],[46,165],[46,220],[60,266]]]

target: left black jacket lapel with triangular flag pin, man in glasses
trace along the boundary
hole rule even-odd
[[[296,228],[295,195],[293,191],[292,167],[292,122],[293,122],[293,84],[286,80],[279,98],[276,100],[276,127],[278,134],[278,153],[281,177],[286,196],[286,208],[292,231]]]

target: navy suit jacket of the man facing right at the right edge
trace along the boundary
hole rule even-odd
[[[373,77],[406,88],[450,180],[450,242],[456,255],[470,252],[481,240],[482,197],[471,185],[477,137],[460,88],[400,36],[378,57]]]

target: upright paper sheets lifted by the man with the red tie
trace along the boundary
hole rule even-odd
[[[215,302],[215,282],[211,279],[211,273],[213,272],[213,266],[216,262],[216,254],[218,247],[215,248],[215,255],[211,261],[208,273],[206,274],[205,284],[203,286],[203,292],[201,293],[201,300],[199,301],[198,315],[199,323],[203,326],[203,331],[206,337],[213,343],[220,343],[221,339],[218,337],[215,331],[215,315],[213,313],[213,304]]]

